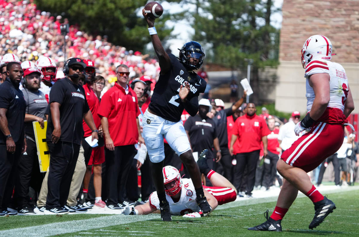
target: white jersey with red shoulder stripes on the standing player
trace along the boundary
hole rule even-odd
[[[313,88],[309,85],[309,76],[316,73],[328,73],[330,76],[330,101],[327,107],[339,108],[341,111],[344,111],[344,104],[349,91],[345,70],[339,63],[322,59],[314,60],[306,66],[304,76],[307,79],[307,110],[311,110],[315,98]]]

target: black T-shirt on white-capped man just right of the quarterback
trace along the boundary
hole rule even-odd
[[[213,158],[213,140],[217,137],[216,125],[213,119],[209,117],[202,119],[201,116],[197,114],[194,117],[189,117],[184,127],[190,135],[193,151],[197,151],[198,154],[201,154],[204,149],[208,149],[210,151],[210,158]]]

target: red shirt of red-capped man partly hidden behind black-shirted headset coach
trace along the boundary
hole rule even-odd
[[[85,90],[87,103],[92,113],[93,121],[95,122],[96,128],[98,129],[101,125],[101,119],[97,114],[98,108],[100,107],[100,101],[89,84],[86,83],[83,87]],[[89,126],[87,126],[85,120],[82,120],[82,126],[84,127],[85,132],[84,137],[90,136],[92,134],[92,130],[89,128]]]

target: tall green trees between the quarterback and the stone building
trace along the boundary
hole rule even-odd
[[[279,30],[270,25],[272,0],[172,0],[194,6],[182,14],[191,19],[193,40],[206,48],[206,60],[232,70],[252,62],[252,101],[259,101],[258,70],[278,65]],[[180,15],[181,16],[181,15]]]

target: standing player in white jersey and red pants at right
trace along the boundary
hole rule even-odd
[[[336,208],[314,187],[307,172],[334,154],[344,139],[346,118],[354,110],[348,78],[339,63],[330,62],[332,44],[323,35],[309,37],[303,45],[302,64],[306,69],[307,110],[294,131],[309,130],[285,150],[278,161],[278,172],[285,178],[273,214],[267,221],[249,228],[257,231],[281,231],[281,220],[298,195],[309,197],[315,209],[309,229],[317,227]]]

